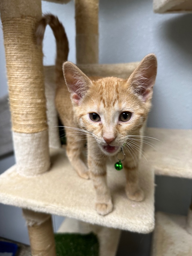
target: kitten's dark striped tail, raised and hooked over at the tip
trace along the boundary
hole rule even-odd
[[[55,74],[56,83],[63,80],[62,64],[68,58],[69,45],[67,35],[63,25],[59,22],[58,18],[52,14],[45,14],[37,23],[36,27],[36,39],[37,44],[41,45],[44,38],[45,28],[49,25],[54,33],[57,46],[57,54],[55,61]]]

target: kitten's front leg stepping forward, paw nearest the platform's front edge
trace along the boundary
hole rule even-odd
[[[98,151],[99,148],[91,147],[88,140],[88,166],[96,191],[95,209],[98,214],[104,216],[112,211],[113,204],[106,180],[106,158]]]

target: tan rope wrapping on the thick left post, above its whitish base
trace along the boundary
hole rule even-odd
[[[42,49],[37,47],[36,18],[2,20],[13,131],[47,130]]]

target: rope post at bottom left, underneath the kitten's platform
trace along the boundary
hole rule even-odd
[[[56,256],[51,215],[23,209],[32,256]]]

